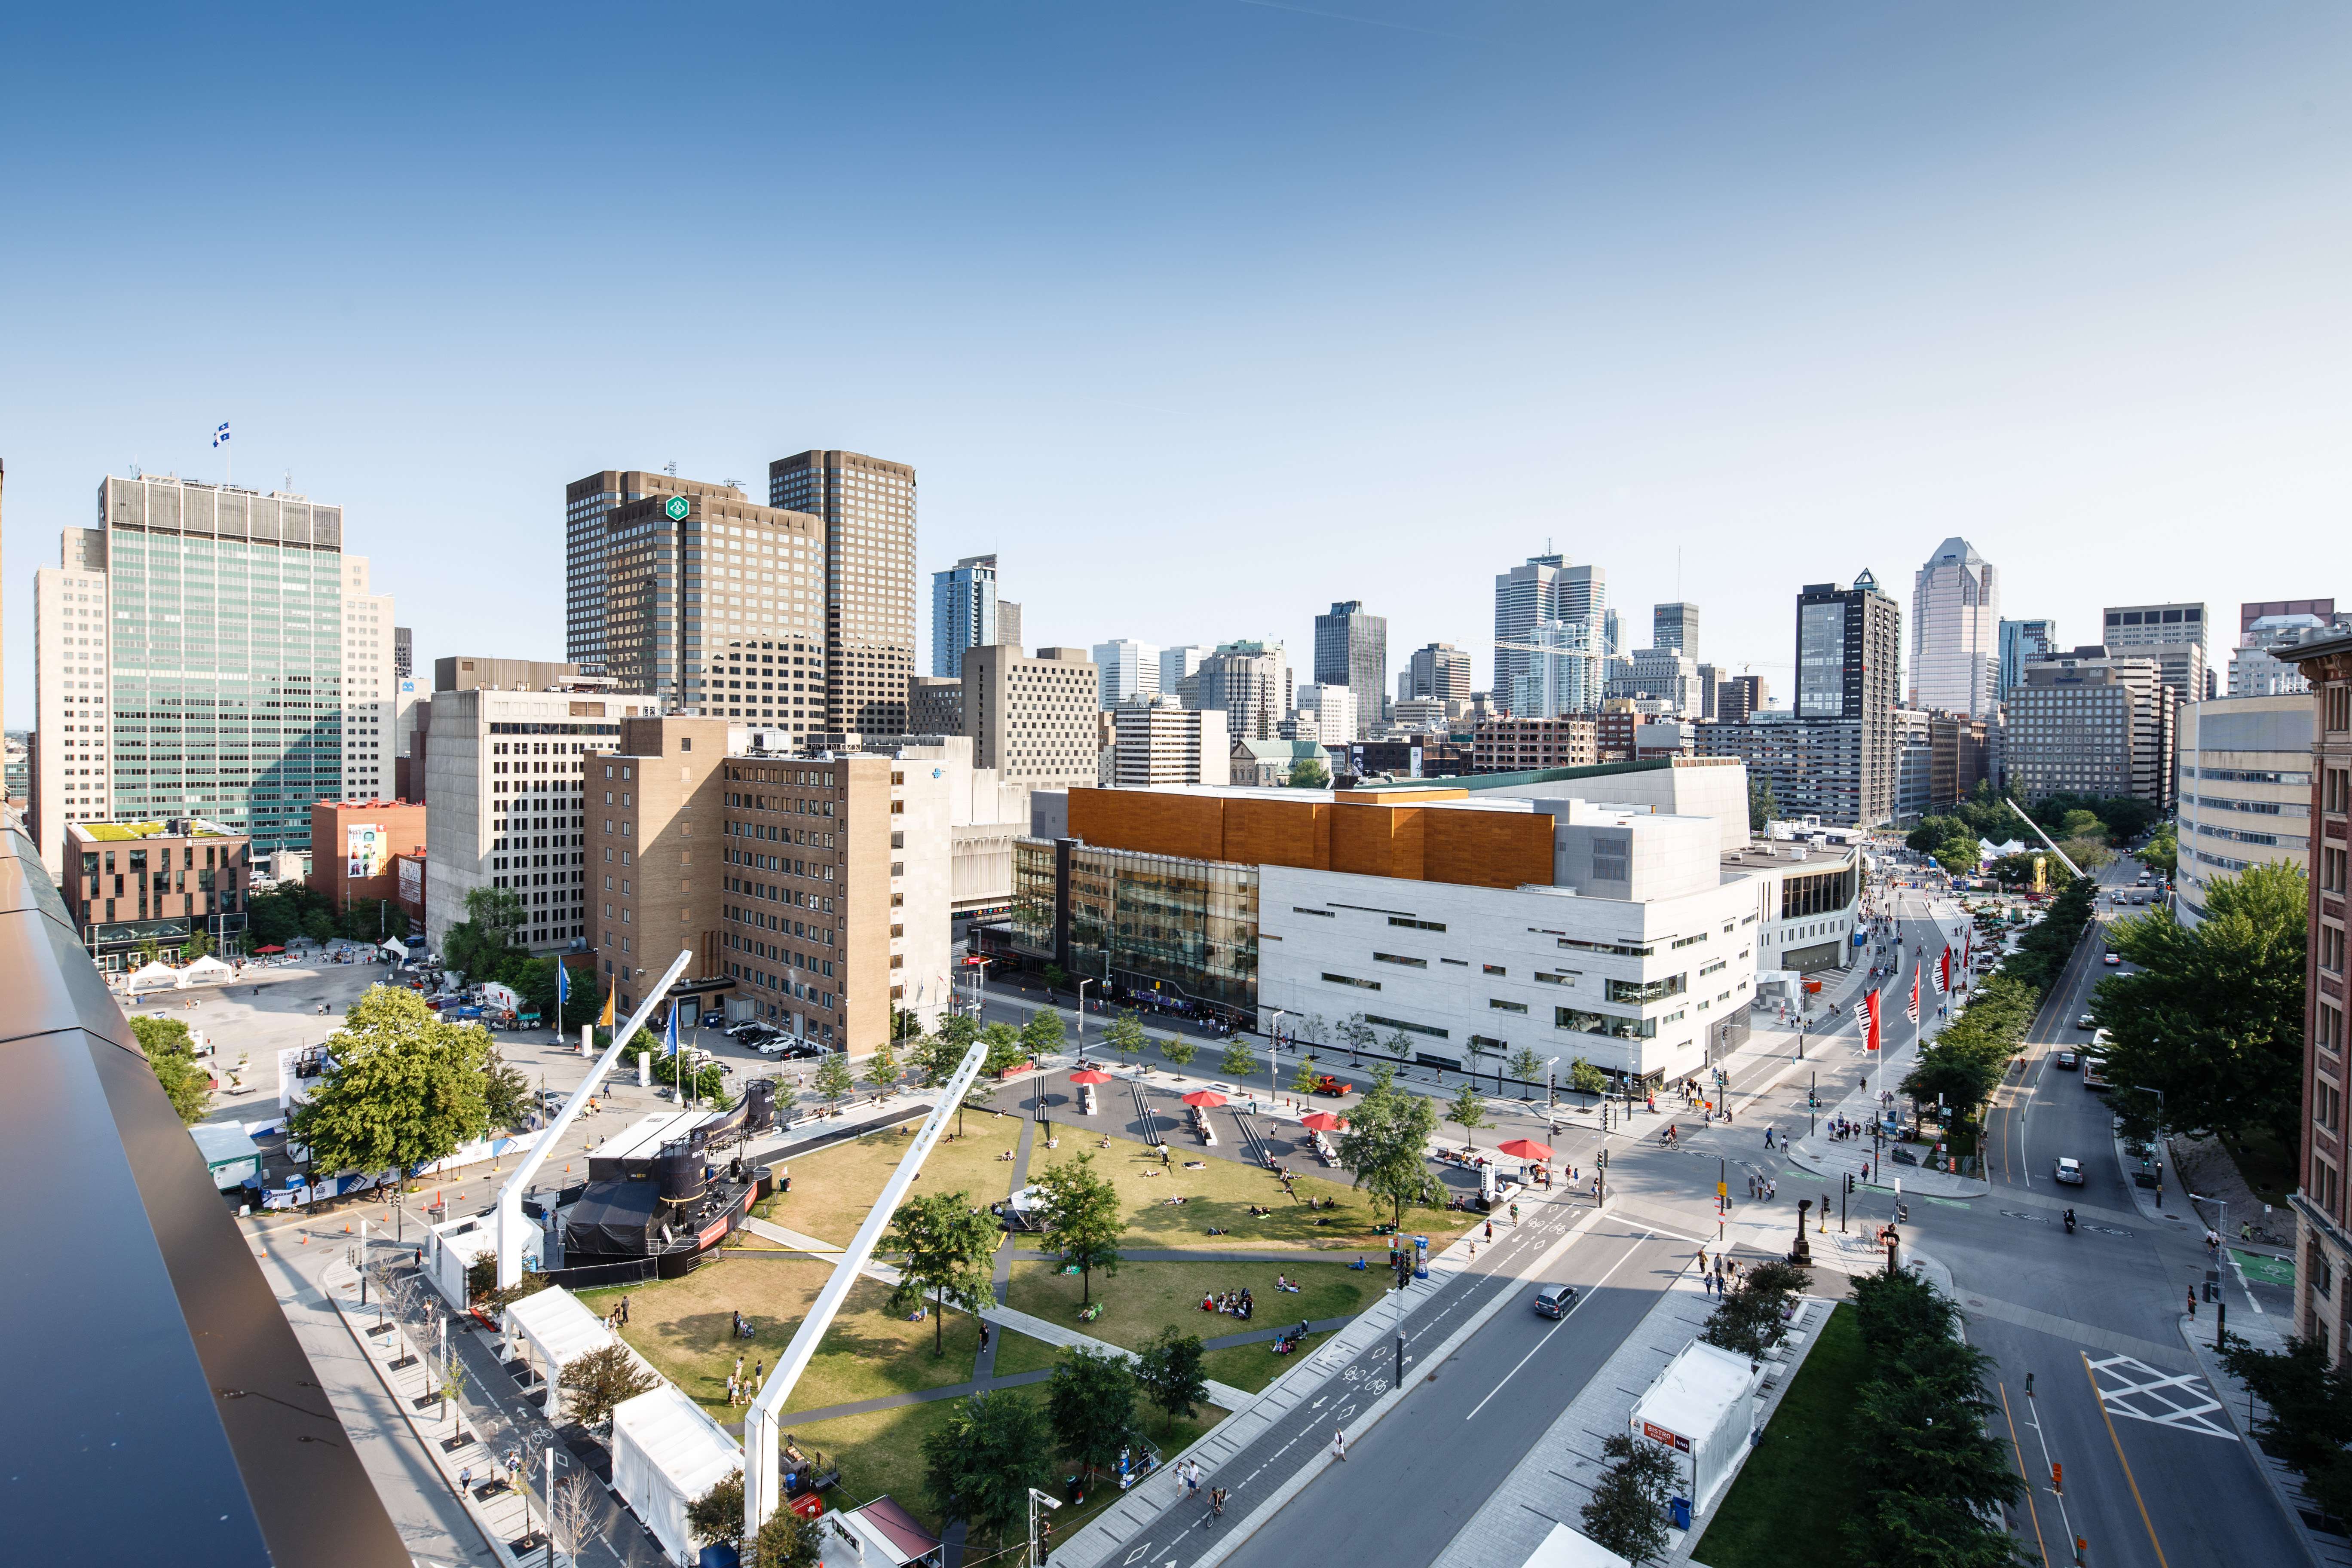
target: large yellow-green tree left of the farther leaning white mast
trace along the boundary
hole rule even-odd
[[[407,1171],[489,1131],[489,1030],[372,985],[327,1037],[327,1074],[289,1119],[318,1171]]]

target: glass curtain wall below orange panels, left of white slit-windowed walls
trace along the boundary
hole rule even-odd
[[[1014,947],[1129,992],[1254,1016],[1258,867],[1016,839]]]

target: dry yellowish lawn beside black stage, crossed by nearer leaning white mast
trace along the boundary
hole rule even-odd
[[[727,1255],[706,1262],[684,1279],[621,1291],[586,1291],[590,1312],[609,1312],[614,1295],[628,1295],[628,1328],[621,1335],[647,1361],[706,1406],[720,1422],[743,1420],[743,1408],[727,1408],[727,1375],[743,1356],[750,1375],[755,1361],[776,1363],[793,1340],[809,1302],[833,1269],[802,1258]],[[934,1324],[908,1324],[884,1312],[889,1288],[861,1279],[842,1302],[840,1316],[823,1345],[793,1387],[795,1410],[816,1410],[882,1394],[936,1389],[971,1378],[978,1352],[978,1326],[962,1312],[946,1316],[946,1356],[931,1354]],[[734,1312],[757,1326],[757,1338],[731,1338]]]

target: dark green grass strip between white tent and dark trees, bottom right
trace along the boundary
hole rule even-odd
[[[1830,1312],[1820,1340],[1764,1427],[1764,1441],[1715,1509],[1691,1554],[1696,1561],[1710,1568],[1783,1568],[1790,1542],[1806,1542],[1802,1556],[1811,1563],[1844,1568],[1853,1561],[1837,1521],[1863,1507],[1846,1462],[1853,1396],[1867,1371],[1858,1324],[1851,1305]]]

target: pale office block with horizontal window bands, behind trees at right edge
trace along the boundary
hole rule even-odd
[[[2176,910],[2185,926],[2204,919],[2216,877],[2281,863],[2310,870],[2310,693],[2232,696],[2180,710],[2178,835]]]

